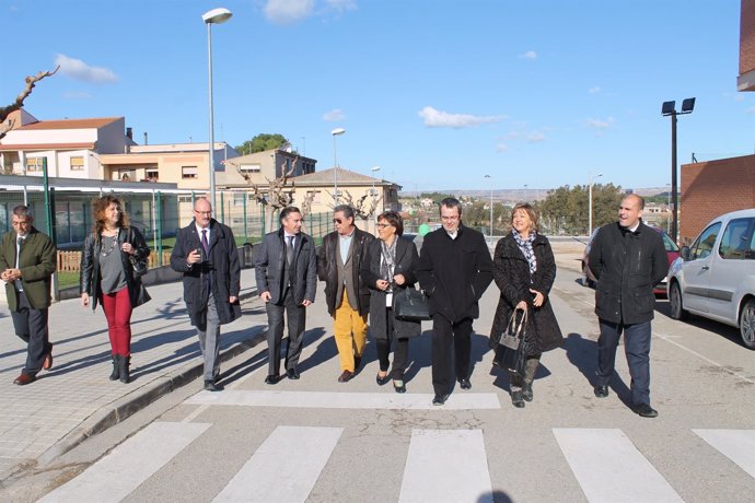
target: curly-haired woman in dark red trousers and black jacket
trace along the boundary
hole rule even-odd
[[[81,254],[81,305],[102,304],[111,339],[111,381],[130,381],[131,312],[150,300],[141,274],[150,249],[144,237],[129,225],[120,200],[112,195],[92,204],[94,229]]]

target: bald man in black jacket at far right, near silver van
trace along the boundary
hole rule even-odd
[[[669,258],[661,235],[642,223],[643,208],[640,196],[625,197],[618,222],[602,226],[590,247],[590,270],[597,279],[595,314],[601,327],[595,396],[608,396],[616,347],[624,332],[632,410],[643,418],[654,418],[658,411],[650,407],[650,321],[655,306],[653,286],[667,274]]]

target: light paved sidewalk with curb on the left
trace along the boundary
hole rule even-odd
[[[267,328],[254,269],[242,270],[241,284],[243,316],[222,328],[223,360],[264,340]],[[53,369],[42,371],[35,383],[14,385],[26,347],[15,336],[8,308],[0,307],[0,484],[201,375],[199,343],[181,282],[148,290],[152,301],[131,317],[130,384],[108,379],[112,361],[105,315],[101,307],[95,313],[82,307],[77,299],[49,309]]]

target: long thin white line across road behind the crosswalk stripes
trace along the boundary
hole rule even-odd
[[[429,394],[395,393],[325,393],[325,391],[202,391],[186,403],[245,407],[295,407],[311,409],[405,409],[405,410],[469,410],[500,409],[495,393],[453,394],[443,407],[432,405]]]

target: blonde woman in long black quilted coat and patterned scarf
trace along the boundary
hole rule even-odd
[[[501,291],[496,308],[491,342],[499,341],[514,309],[526,311],[526,362],[524,373],[509,371],[511,402],[524,407],[532,401],[532,382],[541,354],[561,346],[564,336],[548,301],[556,279],[556,261],[548,239],[537,233],[537,213],[528,203],[511,211],[511,232],[496,245],[493,279]],[[492,344],[497,348],[497,343]]]

